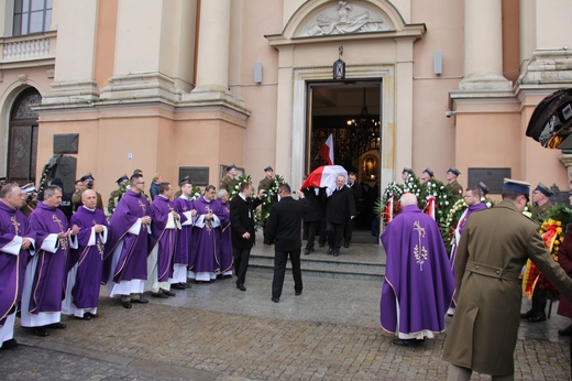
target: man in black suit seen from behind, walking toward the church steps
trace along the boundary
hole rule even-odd
[[[280,301],[284,274],[288,254],[292,262],[292,274],[294,276],[294,293],[301,294],[301,218],[309,204],[304,199],[304,193],[299,193],[301,200],[292,198],[290,186],[280,184],[278,195],[280,200],[271,208],[271,216],[266,224],[266,238],[274,244],[274,277],[272,280],[272,301]]]

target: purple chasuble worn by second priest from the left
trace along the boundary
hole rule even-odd
[[[43,250],[42,244],[50,235],[67,231],[67,218],[58,208],[40,203],[30,215],[30,228],[36,233],[37,266],[29,311],[31,314],[59,312],[66,291],[69,240],[59,239],[57,250],[53,253]]]

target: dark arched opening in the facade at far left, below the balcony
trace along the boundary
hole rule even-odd
[[[8,178],[16,183],[35,183],[37,153],[37,112],[42,96],[28,88],[14,101],[8,130]]]

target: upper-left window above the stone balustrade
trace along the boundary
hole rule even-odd
[[[15,0],[13,35],[42,33],[52,23],[52,0]]]

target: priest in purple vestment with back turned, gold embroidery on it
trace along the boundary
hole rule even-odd
[[[437,222],[402,197],[403,211],[382,233],[387,254],[382,287],[381,325],[409,346],[444,330],[444,314],[454,291],[449,258]]]

